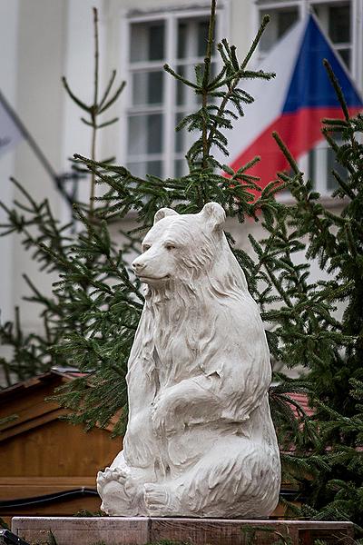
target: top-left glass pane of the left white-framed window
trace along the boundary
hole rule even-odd
[[[133,23],[131,25],[130,61],[159,61],[164,58],[164,23]]]

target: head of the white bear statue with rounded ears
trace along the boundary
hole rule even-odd
[[[149,285],[196,280],[221,253],[225,217],[218,203],[207,203],[194,214],[162,208],[142,241],[142,254],[133,261],[133,271]]]

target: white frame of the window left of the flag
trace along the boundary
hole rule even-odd
[[[228,2],[219,2],[217,5],[217,18],[216,18],[216,29],[215,29],[215,41],[219,43],[227,33],[227,20],[228,20]],[[128,130],[128,118],[132,114],[132,110],[136,113],[142,114],[142,107],[132,106],[132,84],[131,77],[132,73],[136,71],[145,71],[152,68],[152,64],[160,66],[161,64],[169,64],[173,69],[181,64],[196,64],[197,62],[201,63],[201,57],[185,57],[185,59],[178,59],[176,54],[176,35],[177,35],[177,24],[178,20],[192,18],[196,19],[198,17],[208,17],[211,12],[211,5],[209,3],[203,3],[202,5],[190,5],[185,8],[175,9],[170,7],[164,9],[158,9],[154,12],[146,13],[125,13],[121,22],[120,35],[122,36],[122,74],[126,74],[127,85],[125,88],[125,93],[123,95],[123,103],[121,104],[121,115],[122,124],[120,124],[120,140],[119,140],[119,149],[121,150],[121,162],[128,163],[128,150],[127,150],[127,130]],[[164,21],[165,22],[165,57],[162,61],[146,61],[140,63],[130,63],[130,42],[131,42],[131,25],[133,23],[149,23],[152,21]],[[219,55],[216,54],[216,61],[219,62]],[[176,81],[171,74],[164,75],[165,82],[163,88],[163,103],[162,105],[157,105],[154,107],[154,111],[158,113],[162,111],[163,114],[163,134],[162,134],[162,153],[155,155],[155,159],[162,162],[162,177],[168,177],[173,174],[174,165],[173,162],[176,157],[175,152],[175,114],[178,111],[185,111],[188,107],[188,104],[178,105],[176,104]],[[190,92],[192,93],[192,91]],[[153,107],[152,105],[147,105],[144,113],[152,114]],[[181,158],[184,157],[184,154],[181,154]],[[142,162],[145,160],[152,160],[152,154],[139,155],[138,161]]]

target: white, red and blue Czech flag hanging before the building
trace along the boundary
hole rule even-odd
[[[363,110],[363,99],[348,70],[322,33],[314,15],[295,25],[264,59],[260,68],[275,72],[270,82],[250,80],[243,85],[255,102],[235,124],[230,139],[230,166],[236,171],[255,155],[260,163],[248,173],[260,176],[265,187],[276,173],[289,168],[271,133],[277,131],[295,159],[320,140],[323,117],[343,118],[329,76],[327,59],[342,88],[351,115]]]

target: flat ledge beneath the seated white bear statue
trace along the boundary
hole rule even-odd
[[[272,531],[258,530],[269,527]],[[250,541],[243,528],[256,529]],[[293,545],[351,545],[351,522],[312,520],[227,520],[123,517],[14,517],[12,531],[29,543],[45,545],[52,530],[57,545],[144,545],[158,540],[189,542],[193,545],[270,545],[289,537]]]

